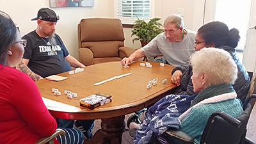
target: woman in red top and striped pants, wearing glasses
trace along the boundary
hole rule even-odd
[[[12,19],[0,11],[0,143],[4,144],[35,143],[57,129],[35,82],[13,68],[20,63],[25,46]],[[54,143],[83,143],[82,132],[63,130],[66,136],[56,137]]]

